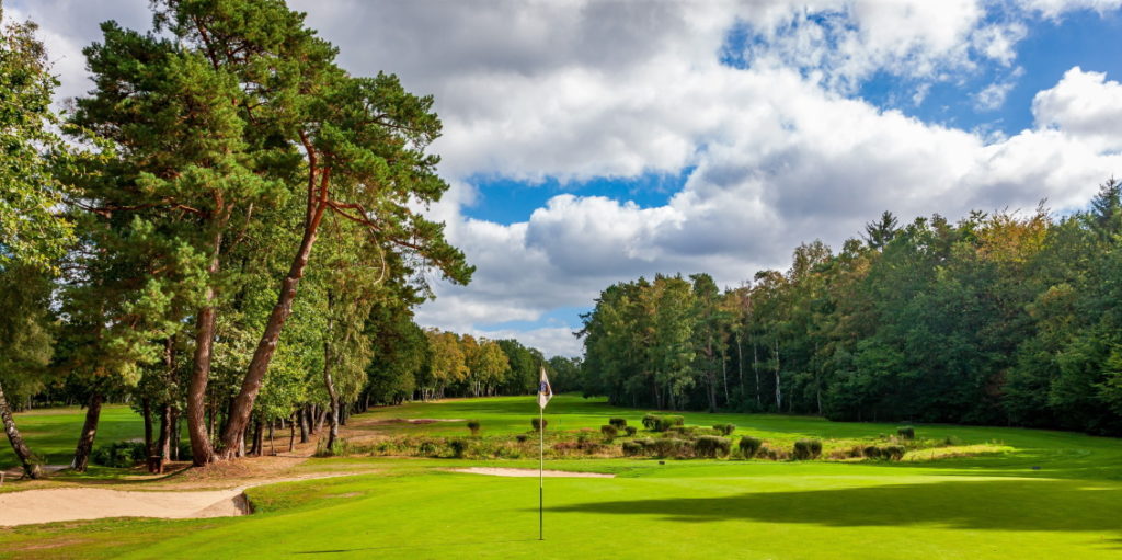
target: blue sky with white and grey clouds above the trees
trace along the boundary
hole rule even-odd
[[[8,0],[59,100],[98,24],[147,0]],[[1122,0],[291,0],[356,75],[432,94],[477,266],[417,322],[579,356],[608,285],[737,286],[889,210],[1085,208],[1122,176]],[[313,257],[314,258],[314,257]]]

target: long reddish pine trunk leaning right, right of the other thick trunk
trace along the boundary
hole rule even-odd
[[[329,169],[322,172],[323,187],[327,189],[329,181]],[[315,180],[314,162],[310,171],[311,184],[309,185],[309,198],[312,196],[312,185]],[[268,371],[269,362],[273,360],[273,352],[276,351],[277,341],[280,339],[280,331],[285,321],[292,314],[292,302],[296,299],[296,288],[300,279],[304,277],[304,268],[307,266],[309,257],[312,255],[312,246],[315,245],[316,230],[327,210],[325,203],[309,204],[307,214],[304,220],[304,238],[300,242],[300,250],[293,257],[288,275],[280,283],[280,293],[277,295],[277,303],[269,313],[269,319],[265,323],[265,332],[257,343],[254,358],[249,361],[246,377],[241,383],[241,391],[234,398],[234,405],[230,414],[229,423],[222,433],[222,455],[230,457],[231,451],[238,444],[238,435],[245,430],[249,422],[249,414],[254,412],[254,402],[261,391],[261,382],[265,380],[265,373]]]

